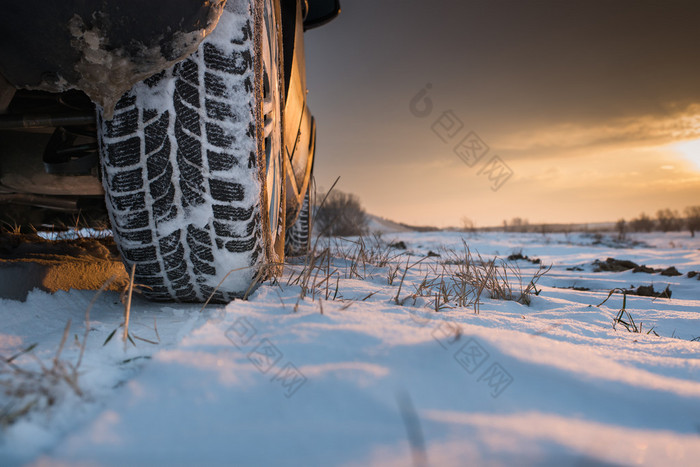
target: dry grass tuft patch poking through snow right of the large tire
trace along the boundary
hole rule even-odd
[[[321,248],[318,243],[317,239],[303,264],[288,265],[286,285],[300,288],[295,311],[306,297],[312,301],[348,300],[343,293],[345,280],[376,277],[385,278],[382,282],[395,287],[392,301],[399,306],[424,305],[435,312],[471,307],[479,313],[484,298],[530,305],[532,296],[540,292],[538,281],[551,269],[540,266],[526,278],[517,263],[499,258],[485,260],[473,254],[466,243],[462,251],[442,251],[444,259],[440,262],[426,261],[428,256],[412,257],[405,251],[396,253],[376,235],[329,239]],[[352,301],[364,301],[375,293]]]

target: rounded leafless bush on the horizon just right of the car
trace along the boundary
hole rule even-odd
[[[316,210],[314,229],[326,236],[364,235],[367,222],[367,214],[357,196],[333,191]]]

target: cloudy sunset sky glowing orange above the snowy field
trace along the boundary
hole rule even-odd
[[[700,204],[700,2],[341,3],[305,37],[319,186],[441,227]],[[444,142],[433,127],[455,119]],[[489,147],[473,167],[453,152],[469,132]],[[494,191],[496,155],[513,175]]]

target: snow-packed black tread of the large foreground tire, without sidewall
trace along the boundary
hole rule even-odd
[[[115,240],[151,299],[229,301],[247,291],[264,256],[254,19],[229,20],[236,37],[215,30],[192,56],[125,94],[111,121],[98,112]],[[230,270],[248,266],[215,291]]]

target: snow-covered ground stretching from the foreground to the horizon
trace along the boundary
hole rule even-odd
[[[38,344],[0,367],[22,396],[0,399],[0,419],[17,415],[0,465],[697,464],[700,276],[687,273],[700,239],[633,238],[397,232],[382,242],[405,250],[364,261],[335,242],[311,276],[296,261],[249,301],[200,312],[135,297],[126,350],[121,329],[103,345],[122,321],[117,293],[0,300],[0,355]],[[484,260],[540,259],[505,270],[513,298],[553,267],[529,306],[482,292],[477,314],[475,291],[442,304],[463,241]],[[608,257],[683,275],[593,272]],[[300,298],[304,283],[316,287]],[[626,297],[642,332],[613,328],[621,293],[597,306],[652,284],[672,298]],[[60,361],[75,364],[87,335],[78,391],[27,373],[53,365],[69,320]]]

